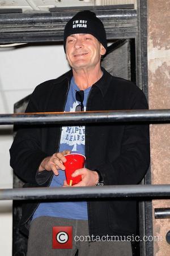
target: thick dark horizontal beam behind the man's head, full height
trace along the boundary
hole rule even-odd
[[[79,10],[82,10],[79,7]],[[0,44],[63,41],[66,23],[78,9],[45,13],[0,14]],[[105,27],[107,39],[135,38],[137,11],[134,9],[93,9]]]

